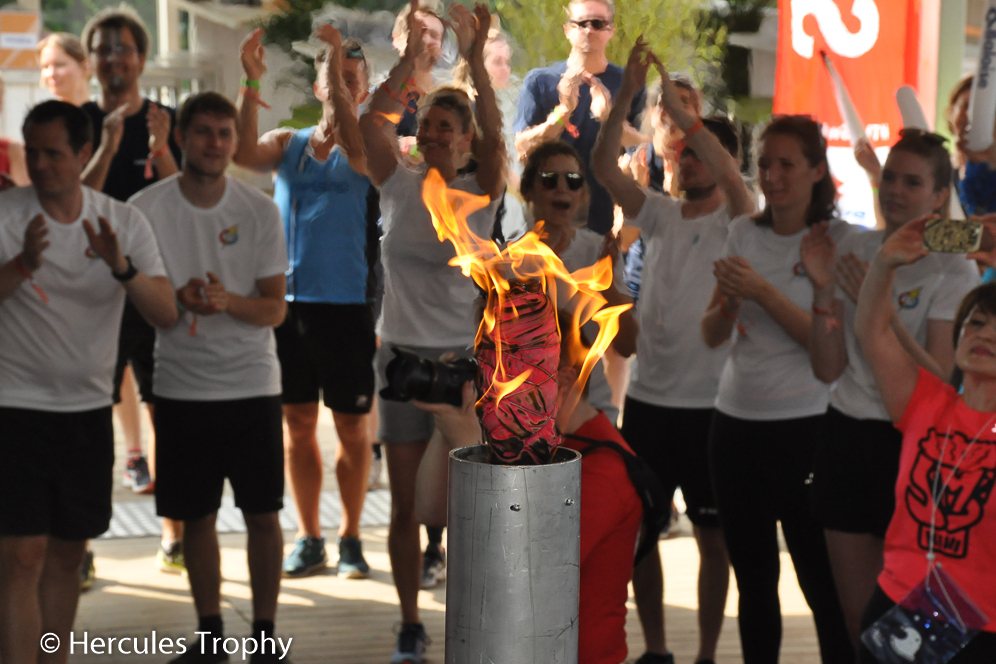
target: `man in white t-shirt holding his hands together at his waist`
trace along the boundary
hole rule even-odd
[[[284,455],[273,328],[287,311],[287,250],[273,201],[225,175],[236,117],[217,93],[190,97],[177,119],[181,172],[131,199],[149,217],[181,305],[180,323],[156,338],[156,509],[184,522],[197,631],[211,636],[196,639],[179,662],[228,659],[214,645],[223,637],[215,520],[226,478],[249,533],[252,661],[280,656],[272,649]]]

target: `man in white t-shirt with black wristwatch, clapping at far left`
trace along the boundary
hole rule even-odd
[[[31,186],[0,196],[0,660],[67,643],[86,541],[111,519],[111,391],[125,297],[176,322],[145,217],[80,184],[92,128],[47,101],[24,120]],[[68,648],[46,655],[65,662]]]

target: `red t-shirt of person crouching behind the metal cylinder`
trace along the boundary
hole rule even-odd
[[[632,451],[601,411],[574,433]],[[588,443],[565,436],[564,447],[581,452]],[[619,453],[603,448],[586,455],[581,461],[578,664],[626,659],[626,599],[642,519],[643,503]]]

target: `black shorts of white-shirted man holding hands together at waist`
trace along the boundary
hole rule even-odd
[[[246,514],[284,506],[280,397],[156,398],[156,512],[193,521],[221,507],[225,478]]]

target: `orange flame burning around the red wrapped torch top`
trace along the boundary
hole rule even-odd
[[[569,339],[573,357],[582,356],[581,327],[588,321],[595,321],[599,325],[598,336],[583,354],[581,374],[563,406],[573,410],[580,398],[580,386],[585,384],[595,364],[618,332],[619,316],[632,307],[626,304],[603,308],[606,300],[601,291],[612,284],[611,256],[605,256],[590,267],[570,273],[563,261],[543,242],[542,222],[538,222],[533,231],[502,250],[490,238],[478,236],[467,224],[467,218],[486,207],[490,199],[447,188],[446,182],[435,169],[426,175],[422,198],[432,216],[439,240],[451,242],[456,250],[456,256],[450,260],[450,265],[459,267],[465,276],[472,278],[487,293],[488,301],[478,328],[476,345],[480,348],[482,340],[493,341],[498,362],[491,383],[487,389],[482,390],[478,403],[493,400],[497,404],[517,390],[528,390],[537,384],[536,380],[527,383],[533,373],[531,370],[512,377],[506,374],[506,363],[501,357],[502,342],[508,346],[509,342],[515,340],[504,339],[501,320],[517,316],[515,305],[509,299],[512,284],[538,281],[555,311],[563,308],[571,312],[571,320],[558,320],[557,326],[560,335],[566,335]],[[558,303],[558,297],[564,297],[566,301]]]

